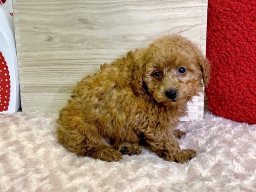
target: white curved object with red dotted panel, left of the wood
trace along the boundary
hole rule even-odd
[[[19,78],[18,78],[18,66],[17,66],[17,55],[15,47],[15,35],[14,35],[14,24],[13,17],[6,12],[4,9],[0,8],[0,60],[2,61],[0,65],[2,68],[4,66],[3,57],[9,71],[9,76],[6,74],[3,69],[0,68],[0,113],[15,113],[20,108],[20,87],[19,87]],[[6,68],[6,67],[5,67]],[[6,79],[10,80],[9,88],[9,105],[6,103],[6,94],[5,92],[6,85],[3,86],[3,76],[6,74]],[[8,78],[9,77],[9,78]],[[2,83],[1,83],[2,82]],[[7,92],[6,92],[7,93]],[[1,105],[2,104],[2,105]],[[1,108],[1,106],[7,105],[7,108]]]

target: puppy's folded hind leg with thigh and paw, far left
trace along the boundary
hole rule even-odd
[[[90,156],[105,161],[122,159],[121,152],[108,144],[96,125],[87,124],[79,117],[68,120],[66,123],[63,119],[59,120],[57,128],[58,142],[67,150],[79,156]]]

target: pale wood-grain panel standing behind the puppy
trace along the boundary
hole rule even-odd
[[[160,35],[205,52],[206,0],[14,0],[23,111],[55,112],[76,82]]]

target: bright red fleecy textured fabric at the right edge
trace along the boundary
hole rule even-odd
[[[208,0],[209,109],[256,124],[256,0]]]

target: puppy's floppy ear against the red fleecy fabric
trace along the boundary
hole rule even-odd
[[[207,58],[205,58],[201,53],[199,55],[198,60],[199,60],[198,63],[203,75],[204,86],[207,88],[210,81],[210,71],[211,71],[210,64]]]

